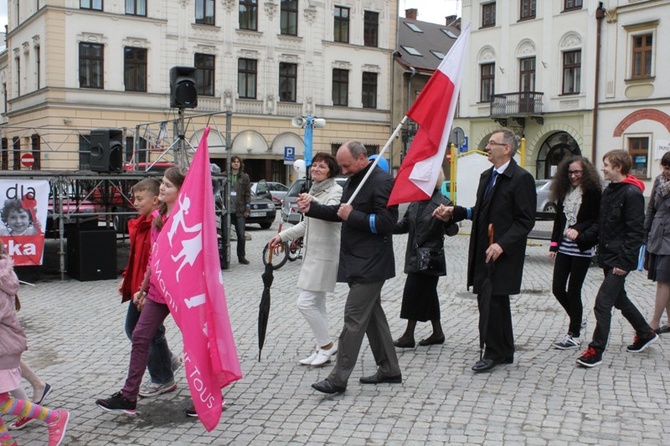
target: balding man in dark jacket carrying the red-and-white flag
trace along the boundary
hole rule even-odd
[[[297,201],[300,211],[311,218],[342,222],[337,281],[349,285],[349,295],[337,363],[328,378],[312,384],[323,393],[346,390],[365,335],[378,369],[374,375],[362,377],[361,384],[402,382],[391,330],[381,306],[384,282],[395,276],[393,228],[398,221],[398,206],[386,207],[393,179],[379,166],[372,168],[365,146],[358,141],[346,142],[338,149],[337,164],[349,176],[341,204],[323,205],[309,194],[300,194]],[[347,204],[368,172],[370,176],[358,195]]]

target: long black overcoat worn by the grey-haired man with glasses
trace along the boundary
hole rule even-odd
[[[472,234],[468,255],[468,287],[479,293],[487,275],[485,264],[488,248],[488,226],[493,223],[494,243],[503,253],[495,262],[493,270],[493,294],[509,295],[521,292],[523,263],[526,255],[528,233],[535,225],[537,193],[535,180],[516,161],[510,160],[505,172],[498,175],[495,186],[488,197],[484,191],[493,168],[485,170],[479,178],[477,202],[472,208]],[[466,218],[466,209],[454,208],[454,220]]]

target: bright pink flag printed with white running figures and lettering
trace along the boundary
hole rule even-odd
[[[221,389],[241,379],[242,371],[219,263],[208,134],[209,127],[158,236],[151,269],[182,332],[195,410],[211,431],[221,418]]]

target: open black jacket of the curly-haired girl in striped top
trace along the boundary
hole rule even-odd
[[[577,221],[570,226],[571,229],[579,232],[575,243],[580,250],[586,251],[594,246],[593,242],[586,239],[586,233],[589,228],[598,223],[598,215],[600,214],[600,196],[602,192],[598,188],[592,188],[583,191],[582,204],[577,212]],[[549,251],[558,251],[558,247],[563,240],[563,233],[565,232],[565,212],[563,212],[563,200],[558,201],[556,209],[556,219],[554,220],[554,228],[551,231],[551,246]]]

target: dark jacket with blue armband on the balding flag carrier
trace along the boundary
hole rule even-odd
[[[342,203],[353,195],[370,166],[372,163],[347,180]],[[398,221],[398,206],[386,207],[392,188],[391,176],[375,167],[351,203],[354,210],[347,221],[337,216],[339,205],[310,204],[308,217],[342,221],[338,282],[372,283],[395,277],[393,227]]]

